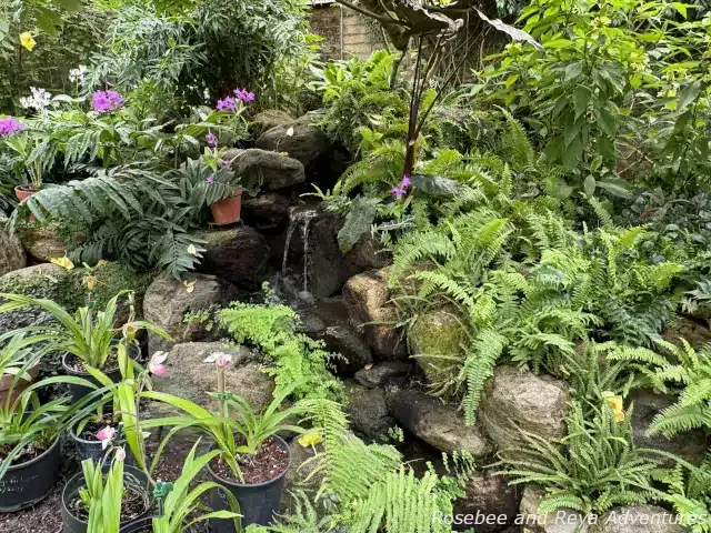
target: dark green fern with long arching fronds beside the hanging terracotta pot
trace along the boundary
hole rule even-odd
[[[77,260],[110,258],[137,270],[157,268],[179,276],[193,270],[204,251],[203,241],[189,231],[200,225],[207,205],[229,197],[236,187],[233,172],[213,171],[202,159],[166,172],[128,164],[47,187],[28,199],[12,221],[31,213],[40,223],[80,222],[88,231],[72,252]]]

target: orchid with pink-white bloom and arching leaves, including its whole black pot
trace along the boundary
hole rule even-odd
[[[258,415],[244,399],[224,390],[224,369],[229,364],[224,354],[218,354],[218,392],[210,393],[220,402],[217,412],[182,398],[156,391],[147,391],[143,398],[164,402],[186,413],[184,416],[153,419],[141,422],[141,428],[170,425],[172,429],[163,440],[187,428],[198,429],[213,442],[218,455],[208,464],[211,479],[228,489],[240,504],[243,525],[268,525],[279,511],[284,481],[291,454],[281,439],[280,432],[303,433],[302,428],[291,425],[288,419],[307,412],[306,401],[278,411],[281,403],[306,380],[298,380],[274,392],[274,399],[267,410]],[[231,416],[234,418],[231,418]],[[159,449],[160,451],[160,449]],[[219,491],[210,493],[210,506],[227,509],[224,495]],[[230,521],[212,521],[216,533],[234,532]]]

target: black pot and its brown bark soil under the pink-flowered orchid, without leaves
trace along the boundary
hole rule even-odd
[[[243,527],[249,524],[269,525],[279,512],[290,459],[287,443],[272,435],[257,453],[240,457],[243,482],[219,459],[208,465],[208,472],[213,481],[237,497]],[[222,491],[214,490],[210,493],[210,506],[214,510],[229,509]],[[234,524],[230,520],[212,520],[210,524],[213,533],[234,532]]]

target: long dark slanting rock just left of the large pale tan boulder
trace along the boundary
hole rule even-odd
[[[395,420],[441,452],[465,451],[478,459],[491,453],[491,446],[479,428],[464,425],[459,413],[439,400],[405,390],[390,391],[387,398]]]

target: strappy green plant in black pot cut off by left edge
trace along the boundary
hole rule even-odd
[[[11,344],[21,342],[20,333]],[[38,389],[51,384],[82,384],[84,380],[80,378],[48,378],[14,393],[22,375],[38,364],[43,353],[27,359],[0,403],[0,512],[33,505],[50,493],[59,477],[59,434],[82,406],[82,402],[68,406],[67,398],[41,404],[37,395]]]

